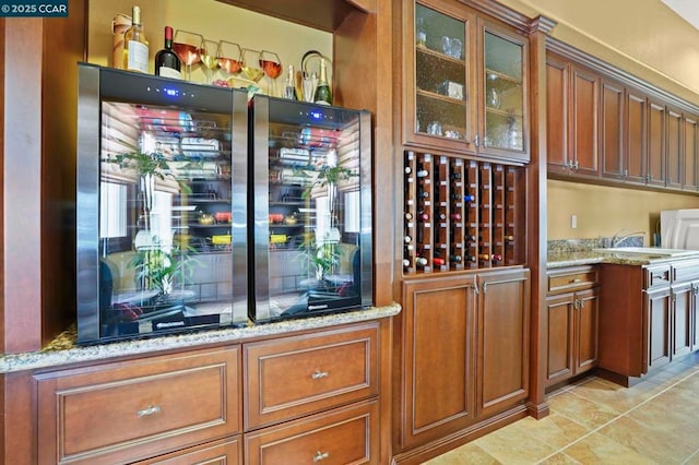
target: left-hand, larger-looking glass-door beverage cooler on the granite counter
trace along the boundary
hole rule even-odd
[[[78,341],[246,324],[247,93],[79,76]]]

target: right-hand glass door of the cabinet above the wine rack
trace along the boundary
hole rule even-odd
[[[526,41],[485,25],[483,39],[483,128],[481,152],[522,158],[528,151]],[[529,158],[529,156],[526,156]]]

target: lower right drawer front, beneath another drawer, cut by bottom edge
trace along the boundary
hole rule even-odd
[[[379,460],[379,404],[362,402],[245,436],[249,464],[369,464]]]

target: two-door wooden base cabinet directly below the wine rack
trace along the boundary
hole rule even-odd
[[[406,279],[403,306],[395,367],[399,450],[465,434],[523,404],[529,270]]]

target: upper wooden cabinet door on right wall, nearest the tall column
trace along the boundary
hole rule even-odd
[[[546,59],[546,153],[548,171],[569,174],[568,90],[569,65],[548,56]]]

